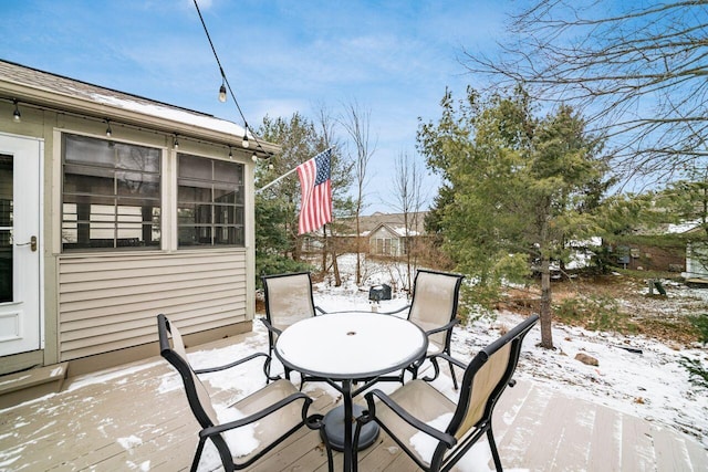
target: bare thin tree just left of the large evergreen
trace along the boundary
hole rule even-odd
[[[404,290],[410,290],[413,281],[413,269],[416,265],[415,240],[418,229],[418,216],[423,206],[421,195],[423,175],[418,162],[410,158],[408,154],[400,153],[394,165],[393,190],[396,201],[393,207],[403,213],[404,221],[404,244],[406,254],[406,277]]]

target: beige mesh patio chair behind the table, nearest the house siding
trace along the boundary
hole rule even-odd
[[[288,326],[325,312],[314,304],[310,272],[264,275],[261,281],[266,294],[266,318],[261,318],[261,322],[268,328],[270,355],[266,368],[268,378],[274,380],[278,377],[271,376],[270,359],[272,359],[278,336]],[[285,368],[284,371],[285,378],[290,380],[291,370]],[[304,381],[304,377],[302,381]]]

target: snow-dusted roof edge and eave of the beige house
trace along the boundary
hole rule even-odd
[[[137,113],[152,116],[162,120],[181,124],[184,132],[192,130],[199,134],[199,129],[216,132],[241,138],[244,133],[242,126],[236,123],[217,118],[212,115],[183,108],[175,105],[132,95],[125,92],[93,85],[86,82],[69,78],[62,75],[28,67],[13,62],[0,60],[0,94],[9,95],[8,99],[18,99],[34,105],[63,104],[72,107],[76,113],[80,103],[86,104],[86,111],[93,105],[93,115],[100,118],[124,119],[127,114]],[[180,129],[176,129],[183,133]],[[269,151],[278,147],[266,144]]]

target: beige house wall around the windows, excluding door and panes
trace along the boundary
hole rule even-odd
[[[155,343],[158,313],[170,316],[186,334],[222,336],[219,328],[240,324],[250,329],[254,314],[254,166],[250,153],[233,147],[233,161],[244,165],[244,248],[183,251],[177,248],[173,230],[176,227],[173,136],[150,128],[152,117],[145,117],[140,126],[112,120],[114,140],[163,150],[162,249],[62,253],[62,133],[105,139],[106,123],[83,117],[75,111],[61,113],[22,104],[22,120],[14,123],[13,108],[11,103],[0,101],[0,132],[44,140],[41,241],[44,344],[40,352],[3,357],[0,374]],[[208,138],[180,137],[179,151],[226,160],[229,149],[211,145]],[[196,338],[209,340],[204,336]],[[154,355],[156,350],[149,353]],[[111,360],[102,363],[110,364]]]

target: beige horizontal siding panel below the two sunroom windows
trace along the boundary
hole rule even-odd
[[[246,251],[59,260],[61,360],[157,339],[164,313],[190,334],[247,319]]]

